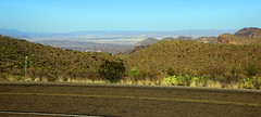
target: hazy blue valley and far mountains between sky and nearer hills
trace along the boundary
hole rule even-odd
[[[173,31],[75,31],[55,34],[0,29],[0,35],[76,51],[116,53],[127,51],[137,42],[148,38],[161,40],[164,38],[181,39],[178,37],[187,36],[191,38],[187,40],[194,40],[199,37],[216,37],[225,32],[234,34],[235,31],[236,29],[198,29]]]

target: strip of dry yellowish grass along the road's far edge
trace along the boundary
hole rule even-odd
[[[80,83],[111,83],[109,80],[103,79],[86,79],[86,78],[70,78],[60,77],[54,81],[48,80],[48,78],[25,78],[16,76],[8,76],[0,81],[34,81],[34,82],[80,82]],[[182,86],[182,87],[206,87],[206,88],[233,88],[233,89],[261,89],[261,77],[252,77],[241,79],[233,83],[224,83],[219,80],[212,80],[211,78],[196,77],[196,76],[170,76],[158,80],[152,79],[130,79],[125,78],[119,80],[116,84],[139,84],[139,86]]]

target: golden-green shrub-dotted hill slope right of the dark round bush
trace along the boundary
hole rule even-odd
[[[228,75],[244,73],[249,65],[261,66],[260,46],[209,44],[185,40],[164,40],[125,57],[129,68],[175,75]]]

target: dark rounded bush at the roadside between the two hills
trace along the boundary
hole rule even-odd
[[[99,74],[102,79],[115,83],[125,76],[125,70],[126,67],[122,61],[110,62],[107,60],[100,65]]]

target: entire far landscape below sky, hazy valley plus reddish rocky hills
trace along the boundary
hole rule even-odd
[[[234,35],[232,35],[234,34]],[[130,54],[160,40],[195,40],[204,43],[261,43],[260,28],[236,30],[175,30],[175,31],[75,31],[66,34],[24,32],[1,29],[0,35],[84,52]]]

